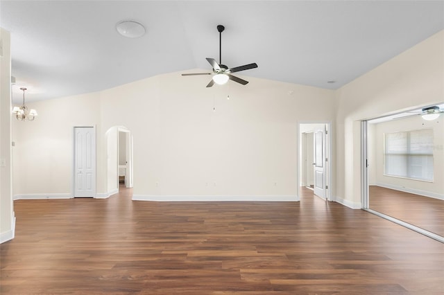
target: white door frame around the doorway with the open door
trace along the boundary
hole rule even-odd
[[[300,155],[301,155],[301,150],[302,150],[302,141],[300,141],[300,137],[302,136],[302,132],[301,132],[301,126],[300,125],[306,125],[306,124],[323,124],[325,125],[325,128],[327,130],[327,133],[325,134],[325,155],[327,157],[327,163],[326,163],[326,167],[325,167],[325,198],[328,201],[334,201],[333,197],[332,197],[332,163],[334,161],[333,157],[332,157],[332,138],[333,138],[333,134],[332,134],[332,123],[329,121],[319,121],[319,122],[299,122],[298,123],[298,169],[297,169],[297,175],[298,175],[298,179],[297,179],[297,186],[298,186],[298,192],[299,192],[299,186],[300,186],[300,181],[301,181],[301,169],[300,169],[300,165],[304,164],[304,161],[301,159]]]

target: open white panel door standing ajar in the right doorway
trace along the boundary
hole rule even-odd
[[[314,194],[325,198],[325,128],[314,132]]]

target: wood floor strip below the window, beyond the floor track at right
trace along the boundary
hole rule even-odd
[[[380,186],[370,186],[369,195],[370,209],[444,237],[443,200]]]

